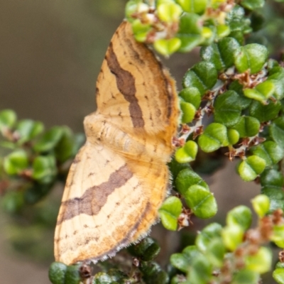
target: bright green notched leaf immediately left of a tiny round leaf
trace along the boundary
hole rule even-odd
[[[228,146],[229,141],[226,126],[218,123],[209,124],[204,130],[204,133],[200,135],[198,145],[206,153],[216,151],[220,147]]]

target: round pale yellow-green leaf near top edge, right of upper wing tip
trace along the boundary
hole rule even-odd
[[[182,13],[180,5],[175,3],[163,3],[158,5],[158,17],[165,22],[177,22]]]

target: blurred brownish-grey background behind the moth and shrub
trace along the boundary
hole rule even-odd
[[[124,18],[125,4],[126,0],[0,1],[0,109],[15,110],[19,119],[43,121],[46,128],[67,125],[82,132],[84,116],[95,110],[95,82],[111,35]],[[276,34],[279,45],[284,38],[278,28],[281,24],[283,21],[275,23],[264,40]],[[279,50],[273,50],[275,57],[278,54]],[[182,75],[198,60],[198,50],[163,60],[178,89]],[[257,185],[241,182],[234,167],[234,163],[224,163],[222,171],[207,179],[217,197],[220,211],[216,219],[220,222],[225,212],[249,204],[259,192]],[[58,187],[48,197],[55,200],[55,209],[47,207],[50,214],[57,214],[61,195],[62,187]],[[0,214],[1,280],[9,284],[49,283],[53,231],[14,231],[9,218]],[[153,236],[158,237],[159,230],[154,229]],[[16,245],[9,239],[15,234],[22,239],[35,234],[40,249],[28,251],[32,246],[26,241],[23,248],[18,244],[16,249],[30,254],[13,253]],[[165,245],[175,243],[175,236],[167,232]]]

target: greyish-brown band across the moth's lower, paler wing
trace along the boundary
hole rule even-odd
[[[82,197],[76,197],[72,200],[62,202],[63,213],[60,218],[58,218],[57,224],[59,225],[65,220],[72,219],[79,214],[87,214],[90,216],[98,214],[104,204],[106,204],[107,197],[111,192],[125,185],[132,175],[133,173],[129,170],[127,165],[123,165],[114,173],[111,173],[107,182],[90,187],[84,192]]]

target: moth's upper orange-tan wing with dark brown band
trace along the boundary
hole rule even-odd
[[[175,82],[143,43],[131,24],[116,30],[97,80],[97,112],[121,129],[175,134],[178,99]]]

